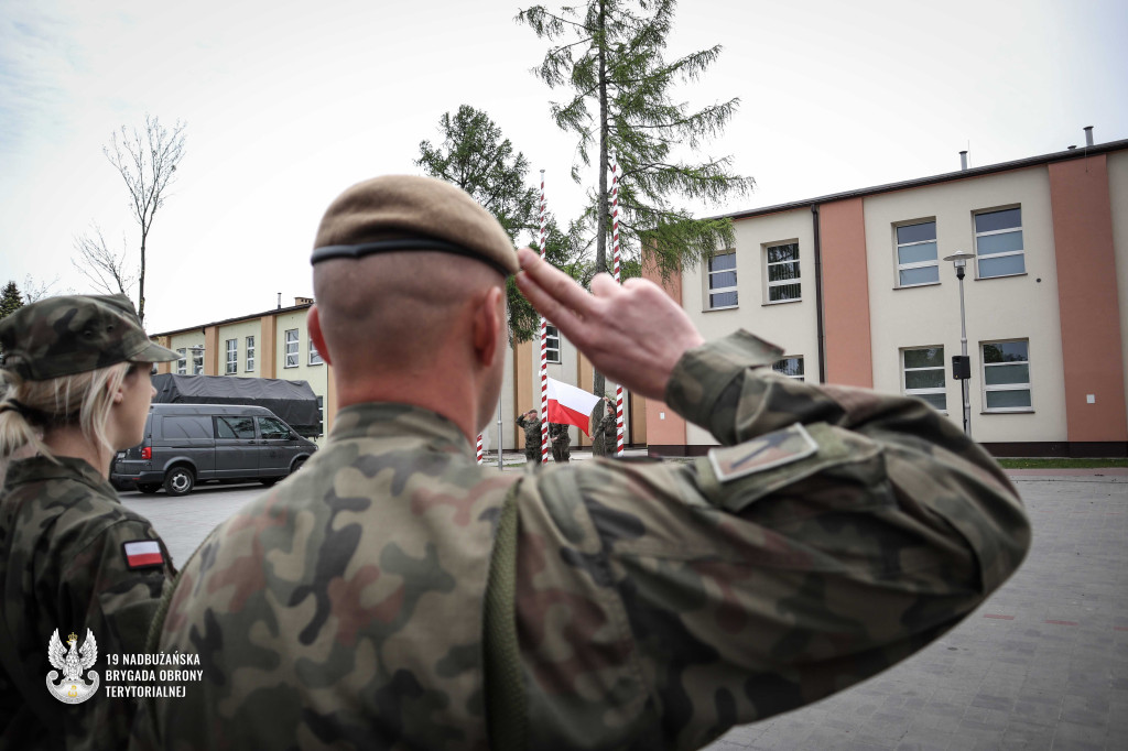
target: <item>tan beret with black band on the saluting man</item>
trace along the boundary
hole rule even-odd
[[[321,218],[310,263],[404,250],[468,256],[503,275],[518,271],[513,242],[488,211],[449,183],[411,175],[377,177],[337,196]]]

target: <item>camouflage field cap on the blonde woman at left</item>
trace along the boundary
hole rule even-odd
[[[120,362],[168,362],[124,294],[61,295],[24,306],[0,320],[2,366],[30,381],[85,373]]]

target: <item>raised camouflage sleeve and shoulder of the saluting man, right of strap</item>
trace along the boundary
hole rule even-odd
[[[699,748],[913,654],[1021,563],[1021,503],[950,421],[751,368],[777,356],[741,334],[679,363],[670,406],[731,448],[522,493],[530,748]]]

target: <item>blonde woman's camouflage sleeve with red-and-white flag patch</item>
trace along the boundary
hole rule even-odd
[[[131,569],[124,545],[135,540],[160,542],[164,565]],[[63,562],[59,612],[68,622],[85,624],[98,643],[98,672],[106,680],[106,655],[144,651],[149,624],[174,571],[168,551],[147,522],[117,521],[97,534],[69,562]],[[44,642],[46,648],[46,642]],[[69,719],[68,748],[117,749],[129,737],[136,712],[132,699],[109,698],[98,691],[76,708]]]

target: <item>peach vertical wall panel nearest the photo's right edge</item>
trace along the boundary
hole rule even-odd
[[[1123,441],[1128,426],[1105,156],[1057,162],[1049,173],[1069,440]]]

